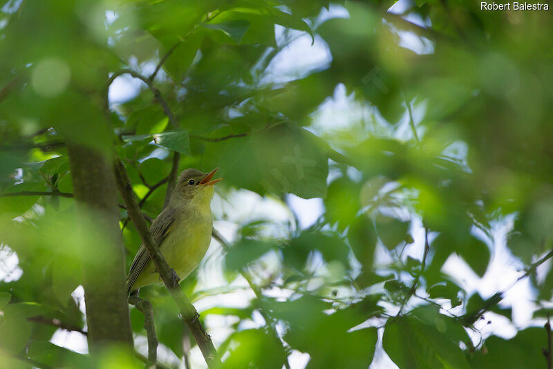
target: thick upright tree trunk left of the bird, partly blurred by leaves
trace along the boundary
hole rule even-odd
[[[83,231],[84,301],[88,347],[133,339],[126,303],[123,244],[113,165],[106,155],[84,146],[68,145],[77,219]]]

